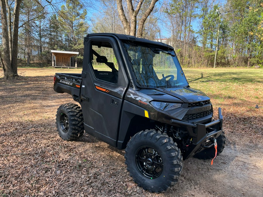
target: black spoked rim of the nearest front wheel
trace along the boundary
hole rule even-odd
[[[141,147],[136,153],[136,166],[144,177],[156,179],[162,174],[162,157],[151,147]]]

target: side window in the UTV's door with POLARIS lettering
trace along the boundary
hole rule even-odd
[[[107,41],[91,42],[91,65],[97,79],[118,83],[118,63],[111,44]]]

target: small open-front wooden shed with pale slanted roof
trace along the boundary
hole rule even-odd
[[[68,68],[77,67],[77,62],[76,61],[74,62],[74,56],[78,55],[79,52],[51,50],[51,53],[52,53],[52,67],[68,67]]]

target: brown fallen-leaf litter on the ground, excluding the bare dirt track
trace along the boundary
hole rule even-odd
[[[72,98],[55,93],[52,80],[53,76],[0,79],[0,195],[174,196],[180,190],[178,185],[165,194],[144,191],[129,177],[124,151],[90,135],[63,141],[56,131],[56,109]],[[223,108],[228,138],[262,144],[262,108],[248,110],[250,101],[234,98],[213,104]],[[179,184],[184,181],[194,185],[184,176]]]

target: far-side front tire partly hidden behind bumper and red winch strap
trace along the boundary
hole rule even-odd
[[[220,155],[220,153],[222,153],[222,151],[225,148],[225,144],[226,144],[226,137],[225,137],[225,133],[224,130],[222,131],[222,134],[219,135],[219,137],[217,137],[217,156]],[[197,154],[194,155],[195,158],[198,159],[212,159],[215,156],[215,148],[214,146],[205,149]]]

